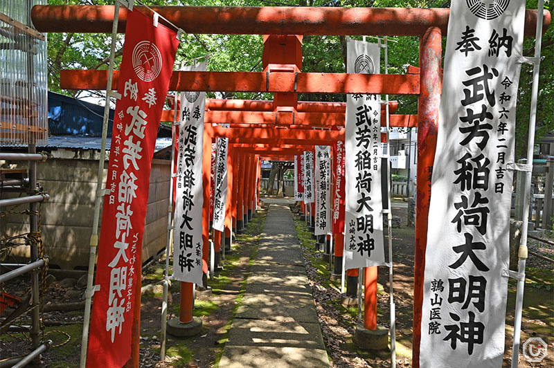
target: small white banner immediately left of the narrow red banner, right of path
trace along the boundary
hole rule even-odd
[[[316,226],[315,235],[331,232],[331,147],[316,146],[315,163]]]

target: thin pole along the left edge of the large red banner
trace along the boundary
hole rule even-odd
[[[116,55],[117,26],[119,20],[119,0],[116,0],[114,7],[114,23],[111,26],[111,45],[109,49],[108,80],[106,84],[106,103],[104,106],[104,118],[102,121],[102,144],[100,145],[100,159],[98,160],[98,176],[96,180],[96,200],[94,202],[94,217],[92,225],[92,234],[89,242],[89,270],[87,273],[87,291],[85,291],[84,316],[82,323],[81,339],[81,358],[80,368],[87,366],[87,349],[89,344],[89,323],[91,319],[92,295],[96,287],[92,285],[94,277],[94,264],[96,262],[96,247],[98,246],[98,223],[100,222],[100,205],[104,199],[104,190],[102,189],[102,178],[104,174],[104,163],[106,159],[106,140],[108,134],[109,122],[109,97],[111,95],[111,80],[114,76],[114,59]]]

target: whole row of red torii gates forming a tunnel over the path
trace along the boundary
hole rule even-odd
[[[136,6],[141,12],[150,12]],[[252,203],[258,186],[259,167],[253,158],[291,159],[292,155],[312,150],[314,145],[330,145],[344,139],[345,105],[341,103],[298,102],[297,93],[375,93],[418,95],[418,115],[393,115],[391,127],[418,128],[417,204],[415,229],[415,266],[413,301],[413,367],[419,367],[420,324],[422,311],[427,215],[430,199],[430,176],[436,150],[438,107],[442,89],[442,37],[447,33],[449,9],[418,8],[310,8],[310,7],[193,7],[158,6],[152,10],[186,33],[256,34],[264,36],[261,73],[175,71],[170,91],[269,92],[274,101],[207,100],[206,134],[208,138],[230,138],[229,199],[232,214],[242,219],[242,203]],[[551,23],[544,11],[543,32]],[[35,6],[31,12],[37,30],[50,33],[111,33],[114,6]],[[127,9],[120,8],[118,32],[125,31]],[[162,21],[162,20],[160,20]],[[526,10],[526,37],[535,35],[537,10]],[[404,75],[367,75],[349,73],[302,73],[302,35],[382,35],[420,37],[419,68],[411,67]],[[107,71],[68,71],[60,74],[62,89],[105,89]],[[118,72],[114,71],[112,89],[117,89]],[[394,112],[397,104],[389,104]],[[173,121],[172,111],[162,120]],[[211,123],[229,123],[230,128],[211,127]],[[314,130],[314,128],[331,128]],[[278,129],[280,128],[280,129]],[[210,154],[210,149],[204,151]],[[209,146],[207,146],[209,147]],[[238,162],[240,161],[240,162]],[[210,159],[204,158],[204,171],[210,171]],[[237,175],[237,164],[249,174]],[[233,173],[234,171],[234,173]],[[246,178],[245,178],[246,176]],[[248,189],[241,190],[244,181]],[[210,181],[204,180],[204,198],[209,199]],[[244,199],[247,198],[245,201]],[[259,198],[259,197],[258,197]],[[209,201],[208,214],[209,214]],[[237,205],[239,204],[240,205]],[[229,203],[228,206],[229,208]],[[249,208],[249,205],[247,205]],[[206,216],[204,208],[203,216]],[[231,212],[231,211],[228,211]],[[226,221],[225,236],[231,231]],[[204,228],[204,257],[208,254],[208,227]],[[373,274],[373,273],[370,273]],[[192,284],[181,287],[181,321],[192,318]],[[188,284],[188,285],[186,285]],[[367,285],[367,280],[366,280]],[[140,286],[139,286],[140,287]],[[139,293],[140,295],[140,293]],[[368,295],[366,295],[367,297]],[[369,295],[371,297],[371,295]],[[376,306],[376,300],[371,300]],[[373,308],[373,306],[371,307]],[[375,313],[366,304],[366,327]],[[135,318],[140,318],[135,313]],[[188,318],[188,320],[187,320]],[[375,327],[373,327],[375,328]],[[129,366],[139,366],[138,337],[134,336]],[[135,345],[135,343],[134,343]]]

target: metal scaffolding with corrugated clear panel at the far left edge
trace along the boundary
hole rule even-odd
[[[2,296],[5,296],[5,282],[30,275],[30,295],[21,298],[20,308],[6,313],[7,317],[0,322],[0,331],[19,331],[20,326],[12,326],[12,323],[29,313],[31,324],[24,330],[28,331],[32,344],[29,353],[0,360],[2,367],[24,367],[51,345],[41,333],[44,326],[40,316],[48,265],[40,234],[40,206],[49,196],[37,184],[37,161],[44,162],[47,158],[46,154],[37,154],[37,145],[48,142],[46,37],[35,30],[30,21],[30,8],[42,3],[46,1],[0,2],[0,145],[28,145],[25,154],[0,152],[0,165],[3,166],[0,169],[0,217],[14,213],[29,217],[28,232],[0,239],[0,260],[5,261],[13,246],[28,246],[30,254],[28,264],[0,264],[8,270],[0,277]],[[27,161],[27,169],[6,165],[12,161]],[[12,192],[19,192],[19,197],[3,197]],[[19,206],[26,204],[28,209],[19,212]]]

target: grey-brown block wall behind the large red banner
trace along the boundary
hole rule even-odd
[[[37,164],[38,182],[51,196],[51,199],[42,205],[40,226],[46,255],[53,268],[87,269],[98,173],[98,151],[58,150],[52,154],[54,158],[46,163]],[[106,174],[107,161],[104,181]],[[143,261],[166,247],[169,185],[170,162],[154,159],[143,237]],[[4,198],[7,197],[8,195],[4,195]],[[101,214],[102,210],[100,217]],[[1,221],[0,230],[8,237],[28,232],[28,217],[25,215],[10,214]],[[12,251],[12,255],[29,257],[28,252],[28,247],[17,247]]]

